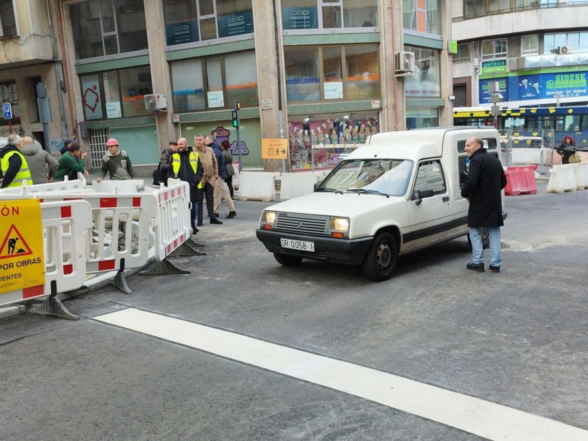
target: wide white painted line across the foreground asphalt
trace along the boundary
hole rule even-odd
[[[441,387],[138,309],[94,318],[349,393],[493,440],[588,440],[588,430]]]

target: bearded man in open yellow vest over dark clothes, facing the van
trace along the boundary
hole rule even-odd
[[[170,143],[172,145],[172,143]],[[192,225],[192,234],[198,233],[196,228],[196,213],[198,211],[198,189],[202,181],[202,163],[198,158],[198,152],[194,152],[192,147],[188,146],[186,138],[178,139],[176,151],[169,155],[168,169],[171,170],[171,177],[181,179],[190,185],[190,202],[192,209],[190,211],[190,220]],[[161,162],[160,162],[161,163]]]

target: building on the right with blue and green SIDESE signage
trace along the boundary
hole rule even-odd
[[[454,0],[452,16],[455,106],[490,106],[491,81],[503,108],[588,104],[585,0]]]

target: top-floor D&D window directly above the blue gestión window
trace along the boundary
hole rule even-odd
[[[285,30],[375,26],[376,0],[282,0],[282,27]]]

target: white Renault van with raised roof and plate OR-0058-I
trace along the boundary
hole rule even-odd
[[[266,208],[257,237],[282,265],[302,259],[362,265],[369,279],[386,280],[397,256],[467,235],[469,203],[460,187],[472,136],[500,159],[495,128],[372,135],[315,192]]]

